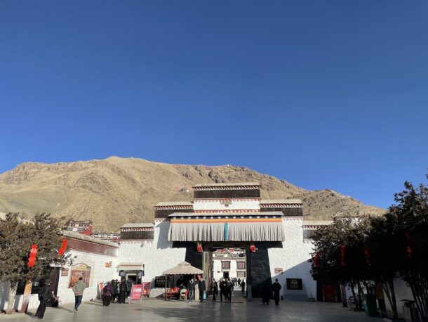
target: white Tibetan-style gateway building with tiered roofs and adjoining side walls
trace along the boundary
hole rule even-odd
[[[341,300],[338,281],[314,281],[307,262],[312,253],[311,232],[331,221],[303,221],[298,199],[262,200],[260,183],[210,183],[193,188],[192,202],[156,204],[154,222],[123,224],[119,243],[65,231],[74,263],[53,271],[55,295],[62,303],[74,302],[71,287],[83,276],[87,286],[83,301],[95,300],[100,282],[126,276],[150,283],[150,297],[156,297],[166,283],[173,286],[162,272],[185,261],[202,269],[206,281],[245,280],[249,301],[261,297],[262,286],[275,278],[285,299]],[[36,286],[35,282],[30,308],[39,304]],[[8,283],[0,283],[0,309],[7,306],[8,288]],[[400,292],[397,289],[398,298]],[[22,295],[18,295],[15,309],[21,304]]]

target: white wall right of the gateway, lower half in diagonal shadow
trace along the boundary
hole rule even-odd
[[[286,240],[282,248],[269,248],[269,264],[272,281],[278,278],[281,283],[281,295],[290,300],[307,300],[316,297],[316,281],[310,274],[311,266],[307,260],[312,252],[312,243],[303,240],[302,217],[283,218]],[[283,273],[275,275],[274,269],[281,268]],[[286,278],[302,278],[303,290],[287,290]]]

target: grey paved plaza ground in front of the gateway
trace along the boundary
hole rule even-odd
[[[29,314],[13,314],[11,317],[0,316],[11,321],[35,321],[35,309]],[[79,321],[79,322],[133,322],[133,321],[210,321],[210,322],[363,322],[382,321],[381,318],[370,318],[363,312],[350,311],[342,303],[328,302],[292,302],[281,301],[279,306],[274,302],[262,304],[260,299],[246,302],[241,295],[234,294],[232,303],[165,301],[155,298],[145,299],[142,304],[112,303],[102,307],[102,302],[83,302],[77,313],[73,305],[66,304],[60,308],[46,308],[44,321]]]

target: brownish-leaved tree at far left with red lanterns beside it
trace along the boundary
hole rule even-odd
[[[13,311],[18,283],[35,281],[51,273],[53,267],[62,266],[69,257],[58,256],[61,245],[62,219],[51,214],[36,214],[32,221],[20,219],[18,214],[6,214],[0,220],[0,281],[10,281],[7,312]],[[36,263],[27,266],[31,245],[37,245]]]

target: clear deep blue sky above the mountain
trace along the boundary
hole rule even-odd
[[[0,172],[242,165],[387,207],[428,168],[428,2],[0,1]]]

